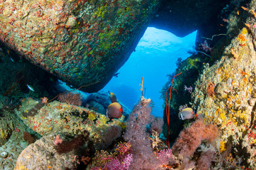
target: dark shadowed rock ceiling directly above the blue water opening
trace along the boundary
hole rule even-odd
[[[168,30],[177,36],[186,36],[195,30],[213,33],[220,11],[228,1],[165,0],[149,26]],[[212,28],[210,28],[212,27]]]

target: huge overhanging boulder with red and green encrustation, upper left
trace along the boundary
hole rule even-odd
[[[0,40],[87,92],[127,61],[158,0],[0,1]]]

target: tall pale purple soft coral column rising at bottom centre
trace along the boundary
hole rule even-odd
[[[142,96],[139,104],[129,115],[124,139],[132,145],[133,161],[130,169],[159,169],[159,161],[154,155],[147,138],[146,125],[151,122],[151,101]]]

